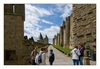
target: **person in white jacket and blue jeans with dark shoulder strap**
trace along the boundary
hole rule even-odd
[[[80,51],[78,49],[78,46],[74,46],[74,49],[71,51],[71,53],[72,53],[73,65],[79,65]]]

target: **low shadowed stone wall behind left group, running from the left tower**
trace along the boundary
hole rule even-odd
[[[21,54],[19,60],[17,61],[17,65],[31,65],[31,57],[30,54],[34,50],[36,46],[39,48],[46,46],[47,44],[34,42],[31,40],[24,39],[23,47],[21,49]]]

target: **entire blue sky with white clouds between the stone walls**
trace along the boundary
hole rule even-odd
[[[24,35],[38,40],[40,32],[52,43],[65,18],[72,13],[72,4],[25,4]]]

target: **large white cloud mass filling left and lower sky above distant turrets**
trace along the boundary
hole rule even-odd
[[[24,22],[24,35],[27,35],[28,38],[33,37],[35,41],[38,40],[40,32],[43,34],[43,37],[47,35],[50,39],[53,38],[53,35],[59,31],[58,26],[51,26],[50,28],[46,28],[41,30],[42,26],[39,25],[39,21],[41,21],[41,17],[53,15],[52,11],[46,10],[44,8],[35,7],[30,4],[25,4],[25,22]],[[46,24],[53,24],[50,21],[42,19],[42,22]],[[51,40],[50,40],[50,43]]]

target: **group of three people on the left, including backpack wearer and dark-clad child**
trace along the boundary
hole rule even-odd
[[[48,52],[48,49],[45,47],[41,48],[41,51],[37,51],[38,46],[34,48],[34,50],[31,52],[31,63],[32,65],[46,65],[46,53]],[[52,65],[54,62],[54,53],[53,50],[50,50],[49,55],[49,63]]]

